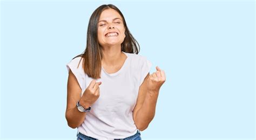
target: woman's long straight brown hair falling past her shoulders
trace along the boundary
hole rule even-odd
[[[126,53],[139,53],[139,44],[136,39],[133,38],[130,33],[124,16],[122,12],[112,4],[104,4],[99,6],[95,11],[93,11],[87,29],[87,43],[85,51],[82,54],[77,55],[77,57],[82,57],[83,59],[83,69],[84,72],[91,78],[100,78],[100,72],[102,71],[102,48],[98,42],[98,21],[101,13],[106,9],[116,10],[120,16],[123,18],[123,23],[125,27],[125,38],[121,44],[121,51]],[[74,58],[73,58],[74,59]],[[82,59],[81,59],[82,60]],[[80,61],[81,61],[80,60]],[[80,62],[79,62],[80,64]]]

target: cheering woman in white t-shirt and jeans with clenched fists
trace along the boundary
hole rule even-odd
[[[159,67],[138,55],[123,14],[101,5],[91,15],[83,54],[67,68],[66,120],[78,128],[77,139],[141,139],[154,117],[157,97],[165,82]]]

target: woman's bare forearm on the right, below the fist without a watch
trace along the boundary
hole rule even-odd
[[[159,91],[147,91],[143,106],[138,110],[135,118],[138,129],[146,129],[149,123],[153,120],[156,112],[158,94]]]

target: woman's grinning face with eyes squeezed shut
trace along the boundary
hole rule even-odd
[[[122,17],[114,9],[102,12],[98,22],[98,41],[100,46],[121,45],[125,38]]]

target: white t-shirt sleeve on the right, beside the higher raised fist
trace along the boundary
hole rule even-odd
[[[142,85],[144,79],[146,78],[147,74],[150,72],[152,67],[152,62],[147,60],[145,57],[140,61],[140,74],[139,76],[139,86]]]

